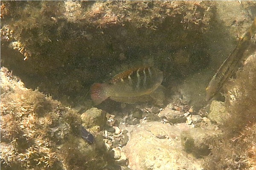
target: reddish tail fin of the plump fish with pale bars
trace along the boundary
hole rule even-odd
[[[102,84],[99,83],[95,83],[92,85],[90,89],[90,94],[93,102],[96,105],[99,105],[101,102],[103,102],[105,99],[108,99],[109,97],[105,94]]]

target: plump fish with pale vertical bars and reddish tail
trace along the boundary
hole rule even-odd
[[[157,68],[131,68],[117,74],[108,82],[94,83],[90,89],[91,99],[96,105],[108,98],[123,103],[147,101],[162,81],[163,72]]]

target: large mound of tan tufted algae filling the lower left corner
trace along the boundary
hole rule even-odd
[[[108,163],[101,135],[94,141],[81,124],[77,111],[1,68],[1,169],[102,169]]]

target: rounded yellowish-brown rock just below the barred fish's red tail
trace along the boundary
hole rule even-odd
[[[87,127],[99,126],[102,129],[106,125],[106,113],[98,108],[90,108],[81,114],[82,122]]]

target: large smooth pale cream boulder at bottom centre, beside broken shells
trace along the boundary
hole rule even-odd
[[[181,145],[181,130],[189,129],[184,126],[147,122],[131,127],[130,140],[123,147],[131,170],[201,170],[201,160],[189,157]]]

